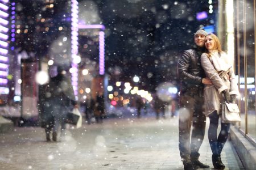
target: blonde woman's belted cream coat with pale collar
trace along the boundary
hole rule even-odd
[[[205,85],[204,87],[204,114],[206,116],[214,111],[221,113],[221,103],[224,102],[222,91],[228,89],[230,95],[239,95],[232,64],[229,61],[230,59],[224,52],[212,52],[210,57],[203,53],[201,56],[201,65],[205,75],[213,83],[213,85]]]

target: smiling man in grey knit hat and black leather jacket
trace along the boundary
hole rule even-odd
[[[200,57],[205,50],[207,32],[199,29],[194,35],[195,48],[185,50],[177,62],[180,80],[179,150],[184,169],[209,168],[199,161],[199,148],[205,134],[206,117],[203,114],[205,78]],[[191,134],[191,125],[192,134]],[[191,134],[191,141],[190,141]]]

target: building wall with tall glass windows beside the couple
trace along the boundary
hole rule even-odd
[[[256,167],[256,107],[255,107],[255,8],[256,0],[218,1],[218,36],[224,50],[233,49],[229,56],[234,59],[234,70],[238,79],[242,121],[232,126],[231,140],[246,169]],[[231,8],[231,5],[233,8]],[[230,10],[233,9],[233,10]],[[224,12],[222,12],[224,11]],[[233,16],[232,18],[230,18]],[[230,30],[230,20],[233,24]],[[233,32],[233,33],[232,33]],[[233,35],[229,39],[229,35]]]

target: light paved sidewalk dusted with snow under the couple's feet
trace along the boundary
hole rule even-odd
[[[46,142],[40,127],[15,127],[0,133],[0,169],[158,169],[181,170],[178,118],[108,118],[73,129],[59,142]],[[207,120],[207,127],[209,120]],[[207,133],[200,161],[212,165]],[[225,169],[244,169],[232,143],[222,152]]]

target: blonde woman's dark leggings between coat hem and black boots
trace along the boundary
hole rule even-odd
[[[224,147],[226,140],[228,139],[230,124],[221,123],[221,131],[217,136],[218,120],[220,114],[217,111],[210,114],[210,126],[208,130],[208,139],[210,148],[212,149],[213,155],[220,155],[222,148]]]

